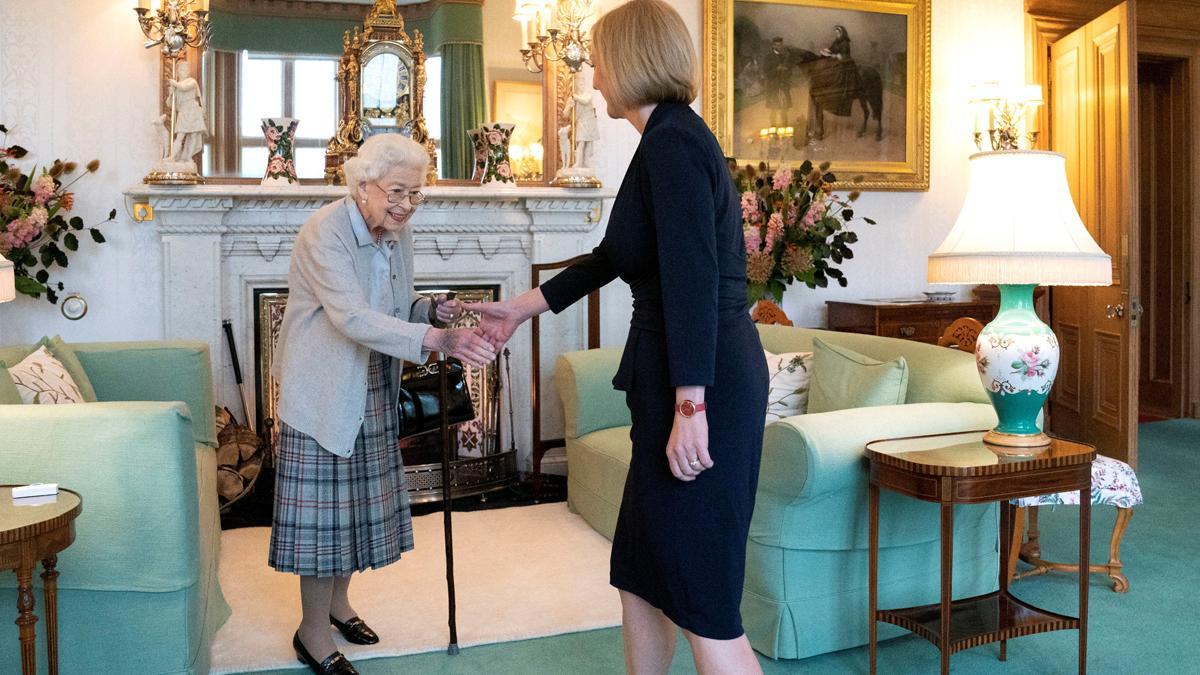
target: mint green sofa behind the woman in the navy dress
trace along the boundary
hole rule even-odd
[[[742,617],[750,644],[772,658],[804,658],[866,644],[866,442],[988,429],[996,417],[974,357],[906,340],[781,325],[760,327],[774,353],[812,350],[812,338],[862,354],[908,363],[905,405],[786,418],[767,426],[746,551]],[[558,359],[568,501],[612,538],[629,470],[629,411],[612,388],[620,351]],[[938,598],[938,508],[884,492],[880,520],[880,607]],[[996,504],[954,512],[954,597],[996,589]],[[880,625],[880,638],[904,631]]]

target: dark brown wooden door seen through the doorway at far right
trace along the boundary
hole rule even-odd
[[[1187,60],[1138,64],[1141,167],[1141,369],[1139,411],[1184,416],[1188,322],[1187,232],[1192,221]]]

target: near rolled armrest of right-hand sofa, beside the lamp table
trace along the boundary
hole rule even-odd
[[[870,441],[991,429],[984,404],[907,404],[788,417],[767,426],[758,490],[797,502],[846,489],[863,478]]]

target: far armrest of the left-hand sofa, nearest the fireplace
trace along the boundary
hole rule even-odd
[[[101,401],[184,401],[196,442],[217,447],[209,346],[198,340],[76,342]]]

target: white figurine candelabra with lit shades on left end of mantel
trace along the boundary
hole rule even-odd
[[[138,0],[138,6],[133,8],[138,14],[138,25],[145,35],[145,48],[160,47],[162,58],[170,64],[170,82],[179,78],[179,61],[184,58],[184,50],[188,47],[204,49],[212,28],[209,24],[209,0],[161,0],[157,10],[151,10],[151,0]],[[164,184],[196,184],[204,180],[196,172],[191,157],[175,157],[173,147],[175,144],[178,112],[175,106],[176,96],[170,96],[170,112],[166,120],[167,143],[163,151],[164,160],[175,160],[164,163],[151,171],[144,179],[145,183]],[[197,102],[199,95],[197,94]],[[194,133],[194,131],[188,131]],[[193,148],[193,144],[182,144],[180,148]],[[186,161],[182,161],[186,160]],[[182,165],[191,165],[185,167]]]

